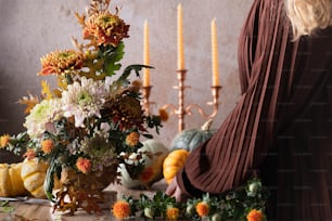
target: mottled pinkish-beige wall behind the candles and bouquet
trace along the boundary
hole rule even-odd
[[[177,5],[183,8],[186,67],[186,103],[196,103],[210,112],[212,100],[210,21],[218,29],[219,69],[222,91],[220,109],[214,120],[219,127],[239,98],[237,44],[240,29],[253,0],[113,0],[112,9],[122,8],[120,16],[130,24],[130,38],[125,40],[124,67],[142,63],[143,23],[150,24],[151,101],[155,109],[166,103],[177,104]],[[80,39],[75,12],[84,12],[88,0],[0,0],[0,132],[23,130],[24,106],[16,103],[27,92],[39,94],[41,77],[39,57],[54,49],[73,48],[71,36]],[[47,78],[49,80],[53,79]],[[187,128],[202,125],[194,110],[186,117]],[[167,146],[177,133],[177,116],[170,116],[155,139]]]

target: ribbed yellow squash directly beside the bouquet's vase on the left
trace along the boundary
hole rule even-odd
[[[48,165],[37,158],[23,161],[21,178],[25,188],[36,198],[44,198],[43,181]]]

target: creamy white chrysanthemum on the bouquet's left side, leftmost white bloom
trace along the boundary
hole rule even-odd
[[[62,113],[60,99],[43,100],[36,104],[30,114],[25,118],[24,127],[30,138],[40,136],[52,121],[59,119]]]

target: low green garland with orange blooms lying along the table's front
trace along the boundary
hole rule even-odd
[[[177,203],[163,192],[149,198],[141,194],[138,199],[124,197],[115,202],[112,212],[118,220],[142,217],[148,220],[210,220],[210,221],[265,221],[265,207],[269,191],[259,179],[248,180],[245,185],[222,195],[191,198]]]

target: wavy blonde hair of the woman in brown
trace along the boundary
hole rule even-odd
[[[332,0],[285,0],[294,40],[332,24]]]

